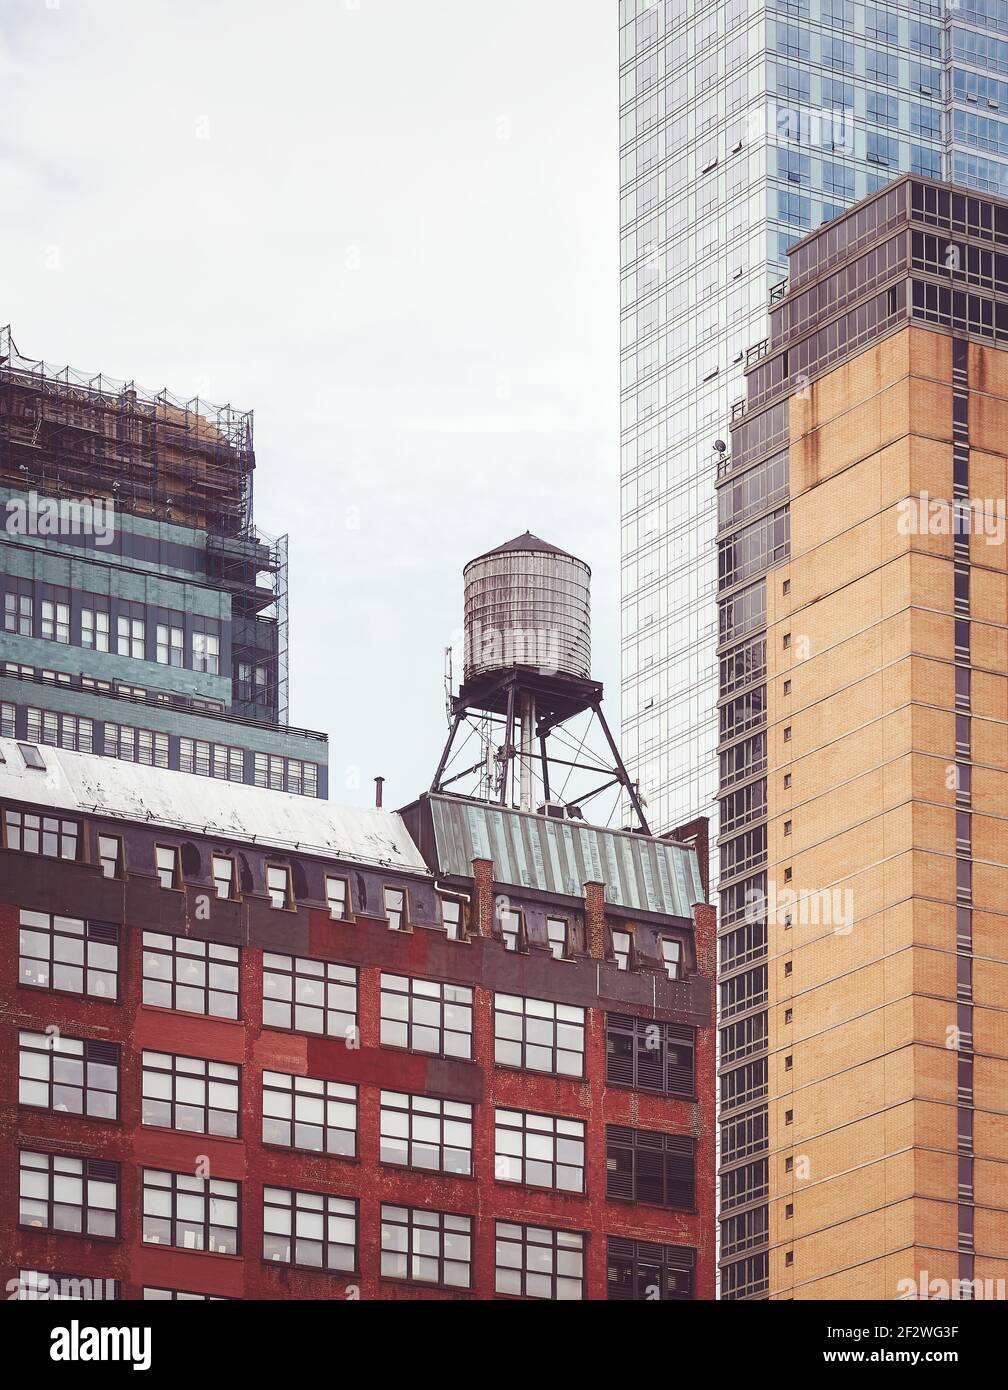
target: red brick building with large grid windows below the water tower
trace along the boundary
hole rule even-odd
[[[13,739],[0,819],[8,1291],[713,1297],[692,847]]]

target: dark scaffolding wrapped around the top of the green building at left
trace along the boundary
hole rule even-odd
[[[252,534],[252,411],[22,357],[0,328],[0,481]]]

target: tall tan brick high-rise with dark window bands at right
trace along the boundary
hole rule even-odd
[[[724,1297],[1008,1276],[1007,267],[1008,203],[902,179],[791,252],[749,354],[719,484]]]

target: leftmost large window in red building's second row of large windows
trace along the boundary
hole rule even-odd
[[[61,1033],[21,1033],[18,1104],[114,1120],[120,1111],[120,1049]]]

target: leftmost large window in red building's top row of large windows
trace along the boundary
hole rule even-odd
[[[18,981],[33,990],[118,998],[118,927],[21,912]]]

